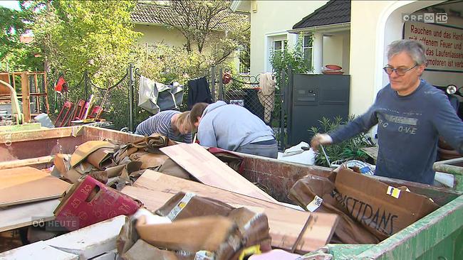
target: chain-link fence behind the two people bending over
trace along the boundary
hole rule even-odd
[[[108,83],[107,87],[100,87],[91,81],[88,73],[84,72],[82,80],[71,86],[71,92],[58,97],[55,102],[57,106],[63,104],[64,100],[78,102],[78,99],[88,100],[93,94],[93,105],[103,108],[101,118],[113,123],[113,129],[127,129],[135,131],[135,127],[143,120],[152,116],[150,112],[138,107],[140,72],[130,66],[113,85]],[[212,93],[212,101],[223,100],[227,104],[238,104],[255,114],[267,125],[276,135],[279,149],[286,148],[286,109],[284,93],[284,82],[276,82],[275,91],[269,94],[263,93],[259,87],[260,77],[263,75],[226,75],[221,67],[211,67],[204,71]],[[284,77],[280,77],[284,78]],[[188,87],[183,86],[183,103],[180,111],[187,110]],[[91,112],[91,111],[90,111]]]

